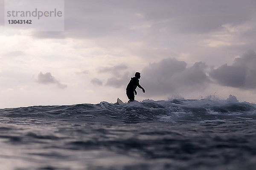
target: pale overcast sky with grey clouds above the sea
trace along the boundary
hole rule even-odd
[[[0,108],[127,102],[137,71],[138,101],[256,102],[255,0],[65,0],[64,31],[5,28],[0,6]]]

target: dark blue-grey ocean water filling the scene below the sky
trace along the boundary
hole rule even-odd
[[[0,170],[255,170],[256,105],[143,100],[0,109]]]

